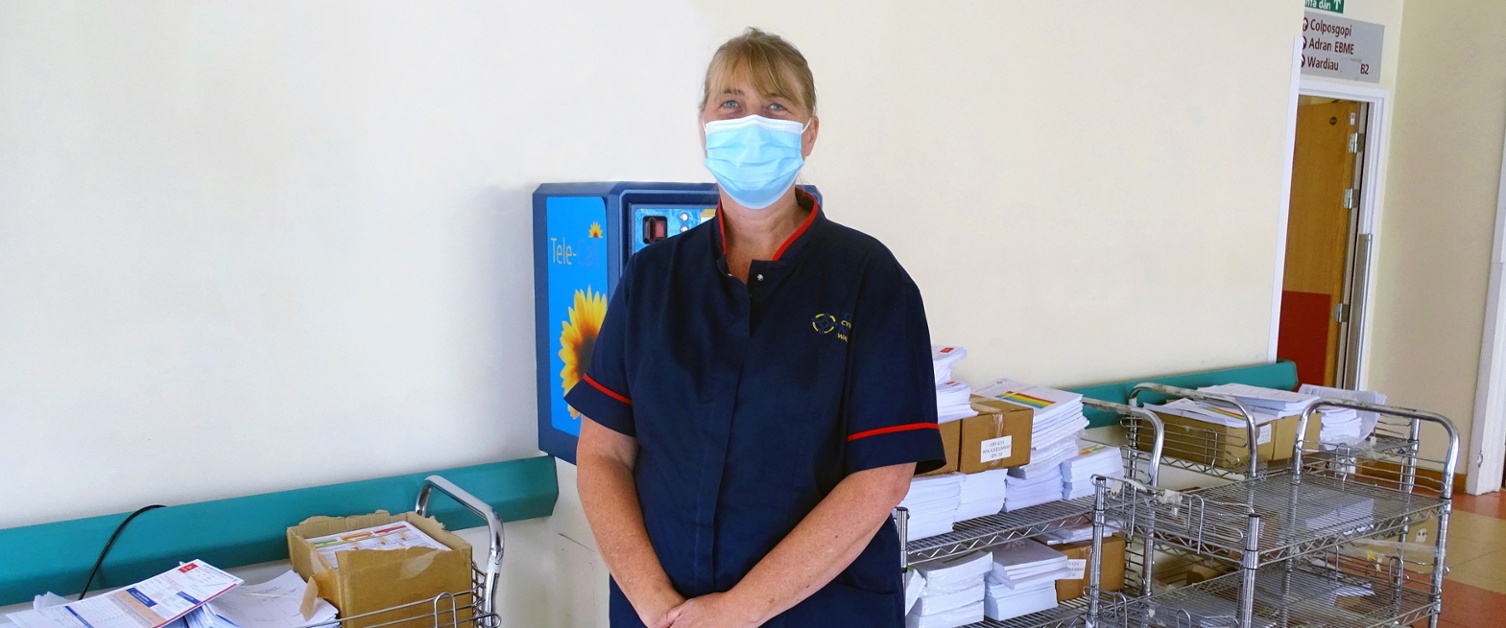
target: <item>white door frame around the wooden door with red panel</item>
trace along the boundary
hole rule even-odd
[[[1297,56],[1301,59],[1300,48]],[[1364,247],[1363,252],[1360,247],[1355,247],[1355,267],[1363,265],[1366,273],[1364,277],[1361,277],[1364,285],[1355,285],[1351,291],[1361,295],[1360,303],[1354,304],[1354,313],[1351,313],[1351,321],[1358,318],[1360,327],[1358,334],[1351,334],[1360,339],[1358,346],[1352,349],[1357,355],[1355,389],[1366,389],[1370,370],[1367,348],[1370,346],[1370,336],[1375,328],[1372,324],[1373,316],[1370,316],[1375,312],[1375,262],[1379,259],[1379,242],[1376,241],[1375,233],[1379,232],[1381,226],[1381,190],[1386,190],[1386,154],[1387,143],[1390,142],[1392,92],[1383,87],[1310,77],[1300,77],[1295,83],[1297,90],[1294,92],[1289,104],[1291,120],[1288,125],[1288,160],[1285,179],[1286,196],[1282,199],[1282,217],[1279,224],[1280,232],[1276,238],[1276,298],[1271,310],[1271,342],[1268,348],[1268,360],[1276,361],[1276,339],[1282,322],[1282,282],[1286,274],[1286,224],[1288,215],[1291,214],[1292,158],[1297,154],[1297,107],[1300,96],[1337,98],[1343,101],[1366,102],[1369,105],[1369,114],[1364,137],[1364,163],[1360,166],[1360,206],[1355,239],[1369,238],[1370,245]],[[1363,259],[1360,259],[1361,255]],[[1503,340],[1506,340],[1506,334],[1503,334]],[[1503,441],[1503,446],[1506,446],[1506,441]]]

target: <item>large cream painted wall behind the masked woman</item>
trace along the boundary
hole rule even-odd
[[[0,526],[532,453],[529,191],[705,181],[747,24],[964,376],[1261,361],[1300,12],[0,5]]]

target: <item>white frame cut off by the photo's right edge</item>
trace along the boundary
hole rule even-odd
[[[1506,139],[1503,148],[1506,151]],[[1471,495],[1501,489],[1506,467],[1506,160],[1495,194],[1495,242],[1491,245],[1491,279],[1485,297],[1485,330],[1480,336],[1480,370],[1474,381],[1474,416],[1464,491]]]

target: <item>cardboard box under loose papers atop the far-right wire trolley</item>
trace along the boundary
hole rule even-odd
[[[1155,413],[1166,425],[1166,444],[1163,455],[1181,458],[1221,468],[1244,468],[1248,465],[1247,426],[1229,426],[1211,423],[1184,416]],[[1282,417],[1259,426],[1256,440],[1256,461],[1279,462],[1292,458],[1292,447],[1297,444],[1297,423],[1300,417]],[[1316,419],[1316,417],[1315,417]],[[1321,420],[1307,423],[1307,440],[1318,440],[1322,431]],[[1149,429],[1136,432],[1136,449],[1149,452],[1154,435]]]

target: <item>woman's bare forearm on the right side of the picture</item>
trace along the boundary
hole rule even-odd
[[[914,464],[848,476],[729,595],[751,623],[800,604],[852,565],[910,489]],[[898,569],[896,569],[898,574]]]

